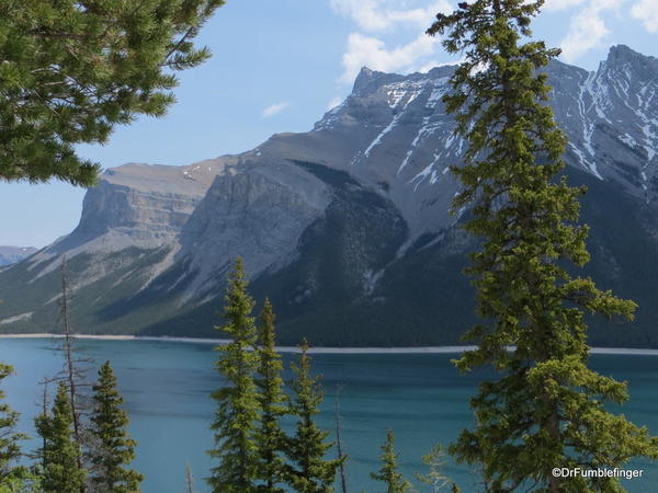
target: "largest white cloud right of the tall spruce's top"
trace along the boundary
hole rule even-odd
[[[565,4],[575,0],[557,0]],[[570,22],[569,32],[561,41],[563,56],[567,61],[574,61],[601,44],[610,34],[610,30],[601,18],[606,10],[615,10],[624,0],[589,0],[588,4],[578,12]],[[654,1],[654,0],[651,0]]]

